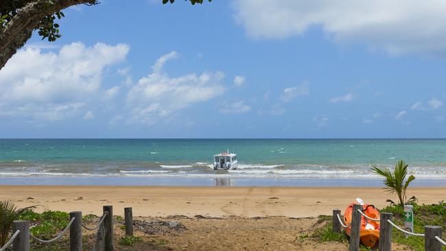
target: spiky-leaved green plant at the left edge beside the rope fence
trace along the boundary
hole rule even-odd
[[[0,247],[6,243],[12,222],[19,219],[19,216],[30,208],[34,208],[34,206],[17,208],[10,200],[0,201]]]

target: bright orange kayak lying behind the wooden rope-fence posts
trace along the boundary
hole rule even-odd
[[[353,202],[347,206],[344,213],[344,222],[349,225],[351,222],[351,213],[353,211],[353,204],[358,204]],[[379,211],[376,210],[375,206],[364,204],[362,206],[364,210],[363,213],[368,217],[373,219],[379,219]],[[345,233],[350,236],[351,226],[345,229]],[[360,240],[368,247],[373,247],[379,240],[379,222],[366,219],[366,217],[361,215],[361,228],[360,228]]]

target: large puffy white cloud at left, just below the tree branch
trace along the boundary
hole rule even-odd
[[[72,43],[58,53],[21,49],[0,71],[0,109],[49,120],[74,114],[101,87],[104,68],[123,61],[129,49],[104,43]]]

